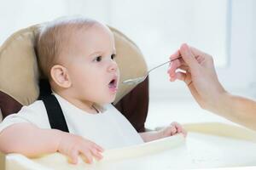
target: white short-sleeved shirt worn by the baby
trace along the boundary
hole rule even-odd
[[[69,133],[90,139],[104,149],[142,144],[143,139],[131,123],[113,105],[105,105],[105,111],[91,114],[69,103],[55,94],[65,116]],[[0,133],[6,127],[19,122],[29,122],[40,128],[50,128],[47,112],[42,100],[23,106],[0,123]]]

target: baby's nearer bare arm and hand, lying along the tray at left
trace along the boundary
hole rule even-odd
[[[102,159],[100,146],[78,135],[64,133],[55,129],[38,128],[31,123],[16,123],[6,127],[0,133],[0,150],[4,153],[20,153],[25,156],[61,152],[78,162],[82,154],[86,162],[92,162],[92,156]]]

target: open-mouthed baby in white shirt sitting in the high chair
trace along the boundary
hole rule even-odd
[[[110,103],[119,84],[113,33],[96,20],[55,20],[37,40],[38,63],[61,106],[69,133],[50,127],[44,102],[38,100],[0,124],[0,150],[38,156],[53,152],[72,163],[102,159],[102,151],[186,132],[176,122],[160,131],[137,133]]]

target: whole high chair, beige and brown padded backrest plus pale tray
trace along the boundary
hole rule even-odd
[[[22,105],[30,105],[38,97],[49,93],[47,83],[39,83],[42,77],[34,50],[39,26],[30,26],[15,32],[0,48],[0,109],[3,118],[20,111]],[[113,27],[110,29],[115,38],[116,61],[120,70],[119,91],[113,105],[125,115],[137,132],[143,132],[148,114],[148,78],[137,86],[127,86],[121,82],[142,77],[147,72],[147,65],[143,54],[134,42]],[[86,165],[80,161],[79,165],[73,166],[67,164],[66,157],[58,153],[35,159],[28,159],[19,154],[5,156],[0,153],[0,169],[180,169],[252,166],[253,163],[256,165],[255,159],[254,161],[236,159],[233,163],[233,157],[231,159],[224,157],[226,162],[222,161],[223,154],[214,155],[214,150],[217,149],[213,147],[214,139],[224,142],[225,140],[221,138],[228,137],[230,144],[236,143],[236,140],[245,141],[251,152],[255,150],[256,153],[256,133],[219,122],[190,123],[185,124],[184,127],[189,131],[187,140],[182,135],[176,135],[147,144],[106,150],[104,160],[95,165]],[[213,145],[208,147],[209,143]],[[205,151],[208,151],[208,154]],[[233,155],[234,159],[237,158],[236,154]],[[212,159],[211,156],[213,158],[216,156],[220,161],[216,160],[216,157]],[[249,156],[256,157],[253,153]]]

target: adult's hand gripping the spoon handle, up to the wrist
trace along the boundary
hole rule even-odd
[[[176,59],[168,70],[170,81],[178,79],[185,82],[198,104],[214,111],[219,95],[224,94],[225,90],[218,82],[212,56],[183,44],[170,59]]]

